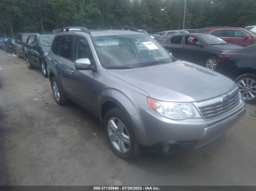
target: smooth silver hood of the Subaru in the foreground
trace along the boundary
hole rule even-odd
[[[147,92],[150,97],[179,102],[206,100],[237,87],[234,81],[207,68],[178,60],[108,73]]]

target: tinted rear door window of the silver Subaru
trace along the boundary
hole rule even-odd
[[[63,36],[60,44],[59,56],[70,60],[73,36]]]

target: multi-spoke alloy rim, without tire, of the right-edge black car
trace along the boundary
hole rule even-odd
[[[238,81],[238,88],[245,100],[252,100],[256,97],[256,81],[251,78],[243,78]]]

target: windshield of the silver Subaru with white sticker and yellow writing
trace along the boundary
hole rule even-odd
[[[155,40],[146,35],[92,37],[104,68],[138,68],[173,62],[173,58]]]

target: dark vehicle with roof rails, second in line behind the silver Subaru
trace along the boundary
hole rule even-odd
[[[38,35],[37,33],[17,33],[15,35],[15,47],[18,58],[24,57],[25,55],[25,43],[30,35]],[[24,57],[25,58],[25,57]]]

